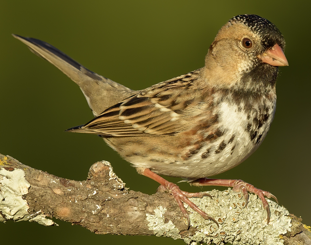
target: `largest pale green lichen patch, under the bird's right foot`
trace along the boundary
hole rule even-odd
[[[185,205],[189,212],[191,226],[198,230],[195,235],[184,238],[186,243],[283,244],[280,235],[290,231],[291,227],[289,212],[284,207],[268,200],[271,218],[270,223],[267,224],[266,210],[263,209],[262,202],[257,196],[250,195],[248,206],[245,208],[243,196],[230,189],[223,192],[213,190],[209,194],[212,199],[191,198],[191,201],[214,217],[220,227],[217,228],[214,222],[203,219]]]

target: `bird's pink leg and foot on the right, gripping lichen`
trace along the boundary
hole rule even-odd
[[[194,186],[228,186],[232,187],[232,189],[236,192],[242,192],[243,196],[246,200],[246,206],[248,202],[248,191],[253,192],[256,194],[262,201],[263,208],[267,210],[267,224],[269,224],[270,221],[270,208],[269,204],[265,198],[271,198],[273,197],[274,200],[278,203],[276,197],[272,195],[268,191],[262,191],[256,187],[254,187],[251,184],[248,184],[242,180],[222,180],[222,179],[208,179],[208,178],[202,178],[198,179],[196,181],[191,182],[192,185]]]

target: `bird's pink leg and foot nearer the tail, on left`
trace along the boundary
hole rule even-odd
[[[146,168],[142,172],[142,174],[145,175],[146,177],[149,177],[149,178],[157,181],[161,185],[159,188],[167,190],[174,197],[174,199],[176,200],[176,202],[177,202],[181,212],[183,213],[183,216],[188,221],[188,227],[190,226],[190,219],[189,219],[189,214],[188,214],[187,210],[183,206],[183,202],[187,203],[190,208],[192,208],[194,211],[196,211],[198,214],[200,214],[204,219],[212,220],[219,227],[218,222],[214,218],[209,216],[207,213],[203,212],[201,209],[199,209],[197,207],[197,205],[195,205],[193,202],[191,202],[188,199],[190,197],[202,197],[202,196],[210,196],[211,197],[211,195],[209,195],[208,193],[200,193],[200,192],[189,193],[187,191],[181,191],[176,184],[165,180],[164,178],[162,178],[161,176],[159,176],[156,173],[152,172],[148,168]]]

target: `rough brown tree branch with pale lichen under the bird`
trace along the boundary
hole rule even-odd
[[[267,225],[266,211],[257,196],[250,195],[245,208],[243,196],[230,189],[209,194],[212,199],[191,200],[215,217],[220,228],[188,208],[191,227],[187,229],[187,221],[170,195],[129,191],[108,162],[93,164],[87,180],[73,181],[0,154],[3,222],[13,219],[55,225],[47,219],[54,216],[98,234],[166,236],[188,244],[311,244],[310,227],[271,200],[271,221]]]

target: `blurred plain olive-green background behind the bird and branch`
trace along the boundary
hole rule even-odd
[[[309,9],[305,1],[3,0],[0,153],[73,180],[85,180],[93,163],[107,160],[127,187],[153,194],[158,184],[138,175],[100,137],[64,132],[93,118],[82,92],[11,34],[49,42],[92,71],[138,90],[201,68],[222,25],[238,14],[257,14],[283,33],[290,66],[280,69],[276,115],[264,143],[244,163],[216,177],[242,179],[270,191],[311,225]],[[180,187],[200,191],[187,183]],[[11,221],[0,223],[0,230],[19,234],[10,236],[12,244],[25,244],[25,237],[33,243],[34,236],[45,244],[184,244],[155,236],[95,235],[56,222],[58,227]]]

